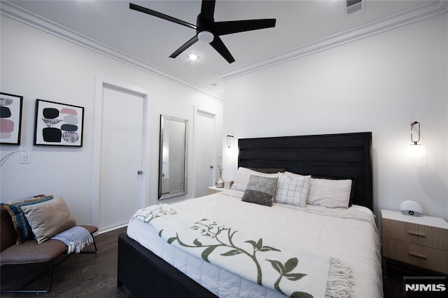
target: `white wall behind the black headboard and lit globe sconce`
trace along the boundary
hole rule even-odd
[[[447,27],[439,15],[226,80],[223,134],[372,132],[376,213],[412,199],[448,220]],[[414,120],[421,159],[405,155]]]

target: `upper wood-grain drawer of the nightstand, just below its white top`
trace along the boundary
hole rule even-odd
[[[383,218],[383,236],[448,251],[448,229]]]

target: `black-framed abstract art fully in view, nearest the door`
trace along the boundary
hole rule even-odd
[[[36,99],[34,145],[83,147],[84,108]]]

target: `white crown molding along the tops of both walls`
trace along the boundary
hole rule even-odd
[[[246,73],[251,73],[253,71],[258,71],[260,69],[265,69],[267,67],[274,66],[276,64],[281,64],[293,59],[298,59],[300,57],[311,55],[316,52],[321,52],[323,50],[335,48],[339,45],[344,45],[352,41],[357,41],[359,39],[366,38],[368,36],[380,34],[384,31],[402,27],[407,24],[411,24],[413,22],[418,22],[428,17],[433,17],[435,15],[447,13],[447,11],[448,11],[447,0],[428,1],[426,3],[422,3],[419,6],[415,6],[413,8],[409,8],[408,10],[404,10],[400,13],[395,13],[394,15],[383,17],[379,20],[363,24],[353,29],[349,29],[346,31],[339,32],[338,34],[333,34],[332,36],[321,38],[317,41],[313,41],[300,47],[281,52],[271,57],[260,59],[255,62],[251,62],[249,64],[245,64],[243,66],[234,69],[230,69],[229,71],[217,73],[216,76],[221,80],[228,80],[230,78],[242,76]],[[81,45],[84,48],[88,48],[95,52],[99,52],[102,55],[111,57],[112,59],[116,59],[130,66],[134,66],[137,69],[146,71],[155,76],[165,78],[166,80],[182,85],[183,87],[187,87],[191,90],[195,90],[202,94],[206,94],[207,96],[214,97],[215,99],[223,100],[223,96],[221,94],[218,94],[217,92],[213,92],[212,90],[200,87],[199,85],[196,85],[195,83],[185,80],[183,78],[180,78],[179,76],[176,76],[173,73],[169,73],[167,71],[164,71],[163,69],[158,68],[157,66],[148,64],[147,62],[144,62],[141,59],[137,59],[132,55],[128,55],[125,52],[121,52],[119,50],[116,50],[115,48],[111,48],[108,45],[105,45],[104,43],[99,43],[99,41],[96,41],[83,34],[73,31],[67,27],[57,24],[56,22],[52,22],[46,19],[45,17],[41,17],[40,15],[31,13],[29,10],[20,8],[20,6],[16,6],[15,4],[10,3],[8,1],[1,1],[0,13],[1,15],[10,17],[13,20],[17,20],[19,22],[28,24],[31,27],[41,29],[42,31],[45,31],[49,34],[63,38],[66,41],[71,41],[72,43]]]

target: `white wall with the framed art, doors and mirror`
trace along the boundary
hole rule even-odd
[[[110,80],[124,86],[146,90],[149,94],[148,144],[150,171],[146,176],[146,204],[158,202],[158,155],[160,114],[189,120],[188,194],[165,202],[192,197],[193,183],[193,113],[194,106],[217,113],[217,132],[222,132],[221,100],[190,90],[151,73],[64,41],[8,17],[1,16],[1,92],[22,95],[22,143],[1,146],[1,157],[26,150],[30,164],[20,164],[20,154],[10,157],[0,171],[1,202],[34,194],[62,195],[75,219],[90,223],[94,106],[97,82]],[[36,99],[57,101],[85,108],[82,148],[33,146],[34,104]],[[221,139],[218,140],[221,150]],[[123,152],[125,155],[126,152]],[[95,218],[96,214],[92,214]]]

